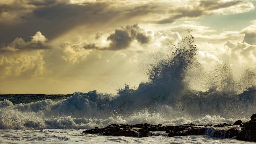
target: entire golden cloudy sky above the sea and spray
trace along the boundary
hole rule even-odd
[[[204,71],[222,65],[236,79],[255,75],[255,6],[255,0],[1,0],[0,93],[136,88],[188,29]],[[191,89],[205,90],[193,82],[209,75],[194,71]]]

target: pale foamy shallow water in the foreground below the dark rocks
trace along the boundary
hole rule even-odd
[[[82,130],[0,130],[0,143],[65,143],[65,144],[91,144],[91,143],[148,143],[148,144],[253,144],[255,142],[238,141],[236,139],[217,139],[209,136],[152,136],[152,137],[123,137],[99,136],[97,134],[82,134]]]

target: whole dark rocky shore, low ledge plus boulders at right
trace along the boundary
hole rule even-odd
[[[83,133],[130,137],[208,135],[216,138],[256,141],[256,114],[253,114],[248,122],[238,120],[232,125],[227,123],[214,126],[195,124],[162,126],[161,124],[151,125],[147,123],[136,125],[112,124],[104,128],[95,127],[94,129],[83,131]]]

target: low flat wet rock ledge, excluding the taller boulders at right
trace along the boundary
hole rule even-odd
[[[94,134],[100,133],[109,136],[132,136],[132,137],[147,137],[156,134],[157,131],[165,131],[166,135],[185,136],[185,135],[212,135],[213,137],[224,138],[225,130],[218,130],[211,125],[184,124],[176,126],[162,126],[150,124],[124,125],[113,124],[105,128],[98,128],[83,131],[83,133]],[[233,135],[233,133],[232,133]]]

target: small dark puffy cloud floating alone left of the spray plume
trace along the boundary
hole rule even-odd
[[[140,28],[138,24],[127,25],[116,29],[114,33],[110,34],[107,38],[110,41],[108,47],[98,47],[96,44],[86,44],[85,49],[98,49],[98,50],[121,50],[130,46],[131,42],[137,40],[140,44],[145,44],[150,41],[151,37],[146,35],[146,32]]]

